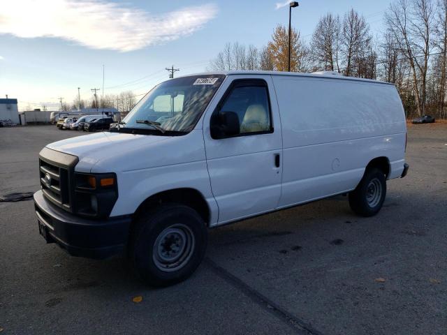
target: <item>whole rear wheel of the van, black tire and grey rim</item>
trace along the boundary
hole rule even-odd
[[[377,168],[369,168],[354,191],[349,193],[349,206],[360,216],[376,215],[386,197],[386,177]]]

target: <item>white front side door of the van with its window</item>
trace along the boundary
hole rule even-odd
[[[221,112],[237,114],[237,135],[212,138],[210,122]],[[205,115],[203,132],[219,223],[276,208],[281,196],[282,140],[271,77],[230,75]]]

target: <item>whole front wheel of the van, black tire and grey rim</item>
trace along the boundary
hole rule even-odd
[[[207,227],[195,210],[182,204],[162,205],[137,218],[129,258],[145,283],[173,285],[191,276],[200,265],[207,236]]]

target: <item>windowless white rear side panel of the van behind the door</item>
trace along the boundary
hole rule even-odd
[[[351,191],[373,158],[404,165],[406,124],[393,85],[272,76],[283,125],[279,207]]]

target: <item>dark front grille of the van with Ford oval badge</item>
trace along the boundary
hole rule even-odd
[[[43,149],[39,154],[39,173],[45,198],[53,204],[73,211],[71,204],[71,180],[78,157],[51,149]]]

